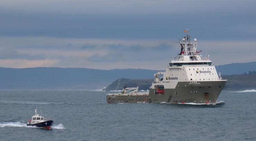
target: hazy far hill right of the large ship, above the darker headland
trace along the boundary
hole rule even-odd
[[[256,62],[249,63],[232,63],[227,65],[215,66],[216,70],[222,75],[243,74],[248,71],[256,71]]]

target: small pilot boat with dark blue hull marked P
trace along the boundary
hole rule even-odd
[[[28,119],[27,126],[37,126],[44,129],[51,129],[53,121],[50,118],[44,118],[42,115],[37,114],[37,109],[35,109],[35,115]]]

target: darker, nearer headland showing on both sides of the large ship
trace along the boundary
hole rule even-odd
[[[222,75],[222,79],[227,79],[225,90],[235,91],[235,90],[252,90],[256,89],[256,74],[251,75]],[[152,86],[153,79],[117,79],[112,82],[105,91],[110,90],[121,90],[124,86],[127,87],[137,87],[139,90],[149,90]]]

